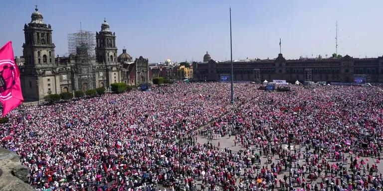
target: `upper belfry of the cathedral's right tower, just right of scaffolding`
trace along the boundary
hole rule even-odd
[[[110,31],[105,19],[101,24],[101,31],[96,32],[96,58],[97,62],[106,65],[117,62],[116,35]]]

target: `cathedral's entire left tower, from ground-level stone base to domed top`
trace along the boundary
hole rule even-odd
[[[24,24],[25,43],[22,55],[25,62],[20,67],[21,91],[25,100],[41,100],[44,95],[57,93],[55,77],[51,70],[55,65],[52,29],[45,24],[37,5],[31,21]]]

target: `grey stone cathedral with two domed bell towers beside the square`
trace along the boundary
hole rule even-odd
[[[99,87],[108,89],[113,83],[150,83],[148,59],[141,56],[132,62],[129,56],[125,62],[120,60],[119,57],[123,56],[117,57],[116,35],[105,19],[101,31],[96,32],[95,49],[79,44],[75,47],[75,53],[67,57],[55,57],[51,25],[44,23],[37,7],[31,21],[24,25],[24,36],[24,64],[20,67],[20,81],[26,101],[41,100],[49,94]],[[126,54],[126,49],[123,54]]]

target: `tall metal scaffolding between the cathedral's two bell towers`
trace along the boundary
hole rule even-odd
[[[81,28],[81,27],[80,27]],[[80,29],[76,33],[68,34],[68,53],[75,58],[77,68],[77,82],[79,90],[96,88],[94,32]]]

